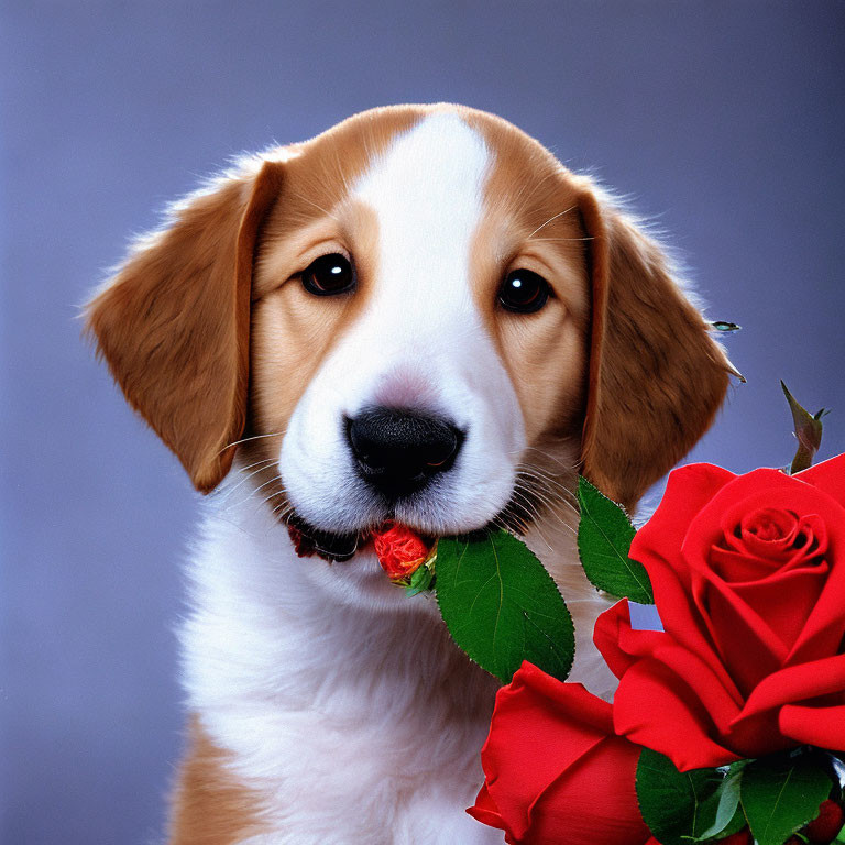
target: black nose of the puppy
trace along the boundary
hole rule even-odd
[[[391,498],[422,489],[453,463],[463,432],[445,419],[398,408],[369,408],[349,420],[361,475]]]

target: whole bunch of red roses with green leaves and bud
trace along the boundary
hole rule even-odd
[[[468,810],[506,842],[845,843],[845,456],[811,465],[822,411],[784,393],[790,468],[681,467],[639,530],[580,480],[584,571],[621,597],[594,628],[612,704],[566,682],[571,617],[515,537],[396,569],[506,683]]]

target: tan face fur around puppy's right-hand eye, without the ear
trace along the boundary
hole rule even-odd
[[[586,386],[590,295],[578,195],[539,143],[492,116],[472,122],[495,154],[472,255],[475,299],[519,399],[526,439],[540,450],[527,462],[548,464],[544,452],[562,458],[560,447],[580,437]],[[537,314],[515,315],[496,301],[502,279],[518,268],[553,290]]]

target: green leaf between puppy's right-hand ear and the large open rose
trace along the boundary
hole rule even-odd
[[[612,595],[654,604],[645,567],[628,557],[636,530],[627,514],[583,476],[578,480],[578,552],[590,582]]]

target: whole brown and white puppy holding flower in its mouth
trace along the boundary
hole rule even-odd
[[[656,243],[504,120],[392,107],[239,161],[87,315],[210,494],[171,843],[502,842],[464,813],[496,682],[366,531],[518,530],[573,613],[572,680],[610,695],[577,475],[633,509],[729,371]]]

